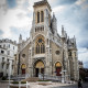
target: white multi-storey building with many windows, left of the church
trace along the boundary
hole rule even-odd
[[[13,75],[14,54],[18,52],[18,44],[11,40],[0,40],[0,77]]]

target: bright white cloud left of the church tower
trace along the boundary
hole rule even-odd
[[[28,16],[29,11],[23,10],[22,7],[8,9],[8,12],[4,13],[3,9],[0,9],[0,30],[3,31],[1,37],[12,38],[13,35],[11,33],[11,26],[19,28],[19,30],[28,30],[22,29],[29,26],[31,29],[32,18]]]

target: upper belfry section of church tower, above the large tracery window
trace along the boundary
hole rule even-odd
[[[33,6],[33,23],[31,34],[36,35],[37,33],[45,34],[45,31],[51,26],[51,6],[47,0],[35,2]]]

